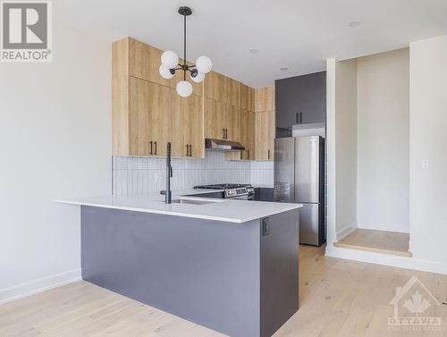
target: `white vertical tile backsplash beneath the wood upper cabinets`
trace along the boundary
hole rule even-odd
[[[115,156],[114,194],[164,190],[165,159]],[[226,161],[223,152],[207,151],[205,159],[173,158],[173,190],[210,183],[251,183],[273,186],[273,162]]]

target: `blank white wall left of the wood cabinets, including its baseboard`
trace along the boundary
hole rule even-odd
[[[111,190],[111,45],[54,27],[52,63],[0,63],[0,301],[80,278],[79,207]]]

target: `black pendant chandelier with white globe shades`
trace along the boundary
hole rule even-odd
[[[192,94],[192,85],[186,80],[186,73],[190,72],[190,79],[196,83],[205,79],[205,74],[211,71],[213,63],[207,56],[198,57],[196,64],[186,64],[186,17],[192,14],[190,7],[180,7],[179,14],[183,16],[183,64],[179,63],[179,56],[172,50],[166,50],[161,57],[162,64],[158,69],[160,75],[166,79],[172,79],[175,72],[183,72],[183,80],[177,83],[177,94],[181,97],[189,97]]]

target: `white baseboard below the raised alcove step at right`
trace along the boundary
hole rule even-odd
[[[344,249],[340,247],[327,246],[326,257],[339,257],[348,260],[368,262],[377,265],[390,265],[398,268],[418,270],[422,272],[447,274],[447,265],[420,260],[415,257],[399,257],[394,255],[363,251],[357,249]]]

